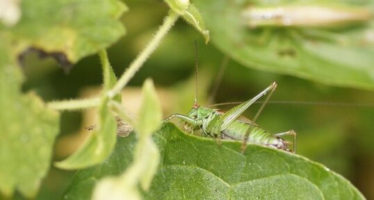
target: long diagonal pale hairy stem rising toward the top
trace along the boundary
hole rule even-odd
[[[154,35],[153,39],[149,44],[145,47],[145,49],[136,57],[136,59],[130,64],[129,68],[124,71],[122,77],[118,80],[117,84],[108,91],[109,98],[113,98],[117,93],[120,93],[120,91],[123,89],[124,86],[133,78],[133,75],[140,69],[141,66],[143,66],[144,62],[147,60],[149,55],[151,55],[154,50],[157,48],[158,44],[160,44],[161,39],[165,37],[166,33],[174,26],[175,21],[179,18],[179,15],[171,11],[169,12],[169,15],[165,17],[163,21],[163,25],[158,28],[158,31],[156,35]]]

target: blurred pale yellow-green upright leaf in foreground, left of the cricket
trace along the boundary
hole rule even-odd
[[[153,176],[158,169],[158,163],[160,162],[160,152],[152,139],[152,134],[160,126],[162,112],[152,80],[145,80],[142,93],[143,102],[138,113],[139,118],[134,122],[138,140],[134,141],[137,143],[136,147],[128,152],[130,154],[133,152],[133,158],[127,156],[127,159],[131,159],[133,162],[130,166],[119,170],[123,172],[120,176],[111,177],[108,175],[113,174],[104,172],[108,177],[101,179],[96,184],[91,199],[140,200],[142,199],[142,195],[138,190],[138,185],[141,185],[145,191],[149,190]],[[121,112],[123,116],[120,116],[127,118],[123,112],[124,110]],[[105,163],[108,163],[108,161]],[[117,163],[109,163],[109,165],[117,166]],[[88,176],[88,179],[92,179],[92,176]],[[73,190],[76,190],[75,186],[71,186],[74,188]],[[92,188],[88,190],[92,190]],[[87,192],[84,192],[84,194],[87,194]],[[77,198],[75,195],[70,194],[65,194],[65,197],[70,199]],[[81,198],[81,195],[79,195],[79,198]],[[86,197],[86,199],[90,198]]]

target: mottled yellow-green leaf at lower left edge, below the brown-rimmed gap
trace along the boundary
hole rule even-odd
[[[0,192],[34,197],[49,170],[59,115],[34,93],[21,93],[22,73],[0,40]]]

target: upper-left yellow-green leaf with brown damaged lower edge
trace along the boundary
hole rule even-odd
[[[118,21],[127,7],[117,0],[22,1],[22,18],[15,26],[1,27],[5,39],[17,41],[19,54],[33,47],[74,63],[117,41],[124,35]],[[95,15],[93,15],[95,14]]]

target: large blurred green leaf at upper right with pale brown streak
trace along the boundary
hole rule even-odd
[[[370,39],[374,18],[361,17],[360,21],[357,12],[373,12],[371,1],[206,0],[195,1],[195,6],[202,12],[213,44],[244,66],[341,87],[374,89],[374,43]],[[339,26],[332,23],[327,28],[319,22],[320,26],[311,27],[307,26],[311,25],[311,19],[303,18],[305,26],[301,22],[298,26],[286,26],[275,21],[273,26],[250,27],[243,14],[249,8],[269,8],[271,11],[266,13],[272,16],[278,13],[275,8],[286,6],[293,6],[293,10],[284,9],[293,14],[298,6],[334,8],[336,12],[357,17],[360,23],[352,24],[355,20],[346,19],[336,21]],[[299,15],[304,16],[300,12]],[[327,15],[326,21],[333,20]]]

